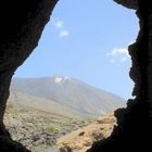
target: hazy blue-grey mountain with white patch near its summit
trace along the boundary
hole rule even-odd
[[[67,77],[14,78],[10,102],[65,116],[96,117],[125,106],[124,99]]]

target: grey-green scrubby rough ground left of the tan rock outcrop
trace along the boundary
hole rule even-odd
[[[81,128],[90,121],[79,121],[34,109],[8,104],[4,123],[12,138],[33,152],[56,152],[60,137]]]

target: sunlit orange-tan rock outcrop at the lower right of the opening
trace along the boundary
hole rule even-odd
[[[107,138],[114,125],[116,125],[114,115],[100,117],[92,124],[60,138],[56,142],[58,149],[60,152],[86,152],[93,142]]]

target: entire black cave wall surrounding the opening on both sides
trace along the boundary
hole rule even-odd
[[[118,126],[110,138],[99,141],[88,152],[132,151],[138,147],[151,148],[152,138],[152,7],[143,0],[114,0],[128,9],[136,9],[140,33],[136,43],[129,46],[132,59],[130,77],[135,81],[127,109],[115,112]],[[16,68],[38,45],[42,29],[58,0],[2,0],[0,4],[0,151],[29,152],[11,139],[3,125],[11,78]],[[96,4],[96,3],[94,3]],[[3,10],[3,11],[2,11]],[[125,16],[124,16],[125,17]]]

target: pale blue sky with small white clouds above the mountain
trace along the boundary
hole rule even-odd
[[[127,46],[138,30],[135,11],[112,0],[60,0],[15,77],[68,76],[128,99],[134,84]]]

